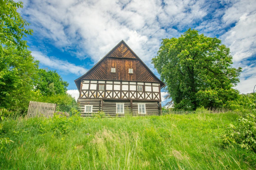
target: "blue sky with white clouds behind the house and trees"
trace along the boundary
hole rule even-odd
[[[180,37],[189,28],[230,48],[233,67],[243,68],[235,87],[240,93],[256,85],[255,0],[22,1],[18,11],[34,31],[26,37],[32,56],[40,68],[56,70],[69,82],[73,96],[79,94],[74,79],[121,40],[159,77],[151,59],[162,39]]]

